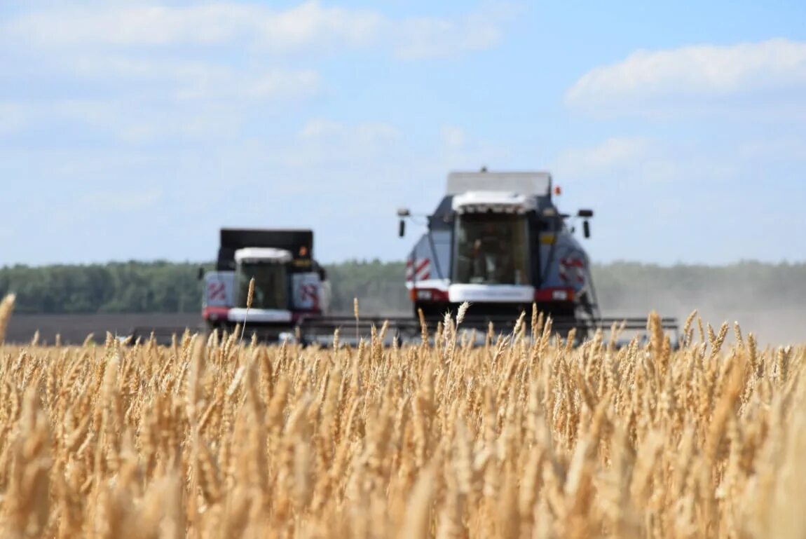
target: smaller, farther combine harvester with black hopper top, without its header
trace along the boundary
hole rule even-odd
[[[312,256],[313,240],[310,230],[222,229],[215,270],[203,276],[207,326],[232,330],[247,322],[272,337],[326,314],[330,284]]]

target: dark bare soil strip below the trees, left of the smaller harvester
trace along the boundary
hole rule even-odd
[[[81,344],[89,334],[103,340],[106,332],[128,334],[135,326],[190,327],[202,322],[198,314],[15,314],[6,330],[6,342],[29,342],[39,330],[39,342],[53,343],[56,334],[64,344]]]

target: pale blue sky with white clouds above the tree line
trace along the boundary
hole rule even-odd
[[[447,172],[549,170],[596,260],[806,259],[804,2],[0,2],[0,264],[401,259]]]

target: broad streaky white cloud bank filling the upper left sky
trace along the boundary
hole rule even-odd
[[[33,2],[0,20],[0,50],[10,60],[0,84],[48,88],[49,97],[33,101],[19,90],[6,97],[0,136],[44,125],[49,114],[135,143],[195,137],[206,128],[215,138],[237,131],[250,107],[282,113],[322,95],[318,68],[301,65],[300,55],[476,51],[495,44],[504,14],[485,8],[392,19],[318,0],[287,9],[235,1]]]

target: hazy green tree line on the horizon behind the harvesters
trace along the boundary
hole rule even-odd
[[[126,262],[2,267],[0,296],[17,294],[16,313],[193,313],[201,308],[199,266]],[[404,263],[351,261],[326,269],[334,311],[351,313],[357,297],[365,314],[410,312]],[[618,315],[657,308],[684,316],[697,307],[729,316],[754,305],[806,312],[806,263],[609,263],[595,265],[593,272],[602,310]]]

